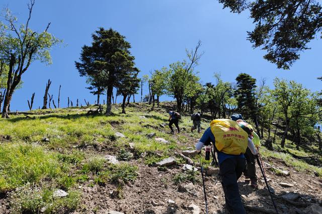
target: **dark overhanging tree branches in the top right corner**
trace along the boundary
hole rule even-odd
[[[250,10],[256,24],[248,32],[253,47],[267,51],[266,60],[289,69],[307,44],[321,32],[322,6],[318,1],[219,0],[233,13]]]

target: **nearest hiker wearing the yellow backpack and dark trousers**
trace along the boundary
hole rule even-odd
[[[249,138],[251,130],[241,128],[237,122],[230,119],[216,119],[211,121],[199,142],[196,150],[201,151],[204,145],[213,142],[217,151],[221,185],[225,194],[226,210],[229,213],[246,213],[239,195],[237,180],[246,165],[244,153],[247,147],[258,155],[253,141]],[[216,140],[215,140],[216,139]]]

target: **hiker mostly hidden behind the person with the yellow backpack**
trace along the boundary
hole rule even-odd
[[[260,146],[260,138],[256,134],[256,132],[253,130],[253,127],[251,125],[247,124],[247,122],[243,119],[241,114],[234,113],[234,114],[232,114],[231,119],[236,121],[241,126],[243,126],[243,125],[248,126],[252,130],[252,134],[251,134],[250,138],[252,139],[254,145],[258,149]],[[244,124],[244,123],[246,123],[246,124]],[[251,181],[251,186],[253,188],[258,188],[257,176],[256,176],[256,166],[255,166],[256,157],[252,154],[252,152],[249,148],[246,149],[245,157],[246,157],[246,168],[244,170],[245,182],[247,184],[249,184],[249,182]]]

